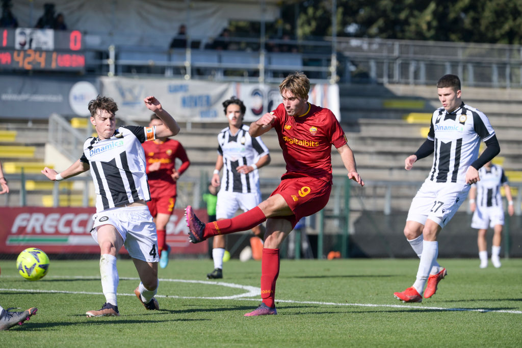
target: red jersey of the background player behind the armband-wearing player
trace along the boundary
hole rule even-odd
[[[147,177],[149,179],[150,196],[175,196],[176,183],[172,179],[172,173],[175,170],[176,158],[182,161],[178,173],[188,168],[190,162],[185,149],[177,140],[167,139],[164,142],[159,139],[155,141],[146,141],[143,144],[145,150],[145,159],[147,161]],[[160,162],[160,169],[157,171],[149,171],[149,165]]]

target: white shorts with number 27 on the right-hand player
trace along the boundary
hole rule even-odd
[[[426,179],[411,201],[406,220],[424,225],[430,219],[444,228],[466,200],[470,187],[466,183],[434,183]]]

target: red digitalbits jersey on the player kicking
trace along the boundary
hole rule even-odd
[[[279,104],[272,123],[279,137],[287,172],[281,179],[310,176],[329,183],[331,175],[331,146],[346,144],[345,133],[333,112],[308,103],[304,115],[289,116],[283,104]]]

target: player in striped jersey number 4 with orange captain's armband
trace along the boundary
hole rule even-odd
[[[89,102],[90,121],[98,136],[85,141],[81,158],[63,172],[58,174],[48,167],[42,171],[53,181],[91,171],[96,190],[91,234],[100,245],[101,283],[106,302],[100,310],[89,310],[87,317],[120,315],[116,301],[119,281],[116,255],[122,245],[132,257],[141,280],[134,293],[146,309],[159,309],[154,298],[158,291],[159,261],[156,226],[146,203],[150,194],[141,143],[176,135],[180,127],[155,97],[147,97],[144,102],[161,119],[161,126],[116,128],[117,104],[98,95]]]

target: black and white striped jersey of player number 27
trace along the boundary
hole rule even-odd
[[[480,140],[493,135],[488,116],[472,106],[462,103],[451,113],[443,107],[435,110],[428,133],[435,147],[428,178],[437,183],[465,183],[468,167],[478,158]]]

